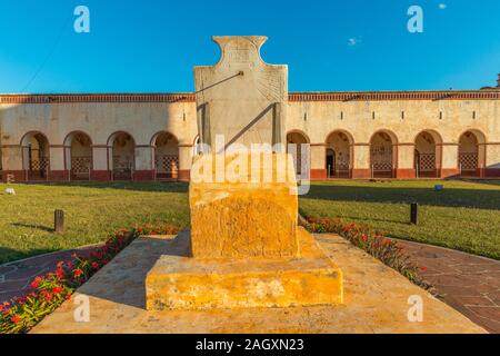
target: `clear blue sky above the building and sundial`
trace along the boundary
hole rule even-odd
[[[90,9],[90,33],[73,10]],[[307,6],[304,6],[307,4]],[[407,30],[423,9],[423,33]],[[178,92],[213,34],[266,34],[292,91],[478,89],[500,72],[498,0],[0,0],[0,92]]]

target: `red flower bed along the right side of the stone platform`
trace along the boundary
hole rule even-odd
[[[419,275],[419,268],[410,261],[398,243],[383,236],[383,234],[372,231],[368,227],[356,224],[342,222],[338,219],[318,219],[309,217],[304,221],[304,228],[312,234],[338,234],[349,240],[352,245],[363,249],[371,256],[378,258],[387,266],[396,269],[412,283],[428,289]]]

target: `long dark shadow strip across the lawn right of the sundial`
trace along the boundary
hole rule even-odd
[[[418,202],[437,207],[500,210],[500,189],[447,189],[444,187],[443,191],[438,192],[432,188],[312,185],[309,194],[302,198],[350,202]]]

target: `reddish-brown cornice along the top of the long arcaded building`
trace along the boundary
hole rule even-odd
[[[393,100],[500,100],[500,90],[290,92],[290,102]],[[194,93],[46,93],[0,95],[0,103],[194,102]]]

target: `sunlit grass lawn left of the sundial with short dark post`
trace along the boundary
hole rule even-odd
[[[106,241],[120,227],[147,222],[189,226],[184,184],[0,185],[0,264]],[[66,231],[54,234],[53,210]]]

